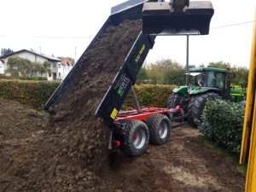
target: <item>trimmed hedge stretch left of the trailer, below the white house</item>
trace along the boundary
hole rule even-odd
[[[0,97],[42,108],[59,84],[55,81],[0,79]]]

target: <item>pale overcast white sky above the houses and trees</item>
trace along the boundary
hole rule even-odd
[[[131,0],[132,1],[132,0]],[[0,0],[0,49],[33,49],[45,55],[79,59],[110,15],[124,0]],[[213,61],[249,67],[255,0],[212,0],[210,34],[189,36],[189,64]],[[157,37],[147,63],[172,59],[186,64],[186,37]]]

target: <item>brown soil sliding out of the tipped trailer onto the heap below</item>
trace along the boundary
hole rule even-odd
[[[141,21],[111,26],[79,60],[84,72],[52,109],[49,129],[19,143],[0,143],[0,191],[90,191],[108,163],[109,128],[95,117]]]

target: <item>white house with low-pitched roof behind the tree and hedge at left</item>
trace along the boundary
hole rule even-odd
[[[49,61],[50,67],[49,69],[51,70],[51,73],[44,73],[42,74],[42,77],[47,78],[48,80],[55,80],[58,79],[58,73],[59,73],[59,63],[61,60],[59,58],[55,58],[54,56],[49,56],[49,55],[44,55],[44,54],[39,54],[37,52],[34,52],[32,50],[27,50],[27,49],[21,49],[19,51],[16,51],[10,55],[5,55],[2,58],[5,61],[4,67],[5,69],[8,67],[7,63],[8,60],[11,56],[17,55],[23,59],[28,59],[29,61],[32,62],[38,62],[38,63],[44,63],[44,61]]]

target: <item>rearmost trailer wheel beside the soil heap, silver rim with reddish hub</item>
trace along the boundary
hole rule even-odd
[[[140,120],[129,120],[126,125],[125,143],[120,149],[127,156],[137,157],[148,148],[149,131],[148,126]]]

